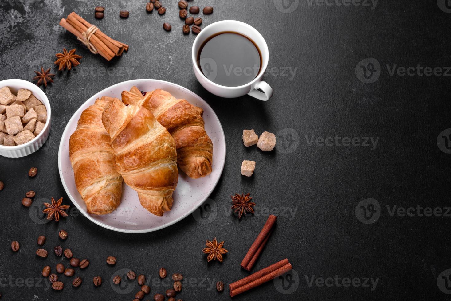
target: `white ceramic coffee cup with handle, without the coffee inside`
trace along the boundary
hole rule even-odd
[[[238,32],[244,36],[249,37],[258,46],[258,49],[260,50],[260,53],[262,55],[262,64],[256,78],[254,78],[252,82],[239,87],[221,86],[205,77],[205,75],[200,70],[197,60],[198,51],[204,41],[206,41],[210,36],[213,36],[219,32]],[[193,70],[198,81],[205,89],[207,89],[214,95],[226,98],[239,97],[248,94],[259,100],[270,99],[272,96],[272,88],[266,82],[262,81],[263,74],[265,73],[265,70],[268,66],[268,57],[268,46],[260,32],[258,32],[257,29],[250,26],[249,24],[235,20],[218,21],[203,28],[194,40],[193,48],[191,50]],[[261,91],[259,91],[258,89],[260,89]]]

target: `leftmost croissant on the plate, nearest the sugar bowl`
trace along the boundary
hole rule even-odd
[[[112,212],[119,206],[122,193],[122,177],[114,167],[110,136],[101,121],[109,100],[109,97],[98,98],[85,109],[69,138],[75,185],[90,214]]]

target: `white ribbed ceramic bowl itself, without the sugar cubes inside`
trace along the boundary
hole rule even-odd
[[[20,158],[28,156],[37,151],[46,141],[50,134],[50,102],[46,94],[32,82],[24,81],[23,79],[6,79],[0,82],[0,89],[9,87],[11,91],[16,94],[19,89],[28,89],[33,95],[46,106],[47,120],[42,131],[32,141],[16,146],[0,145],[0,155],[9,158]]]

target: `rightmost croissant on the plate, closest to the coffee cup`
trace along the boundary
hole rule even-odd
[[[130,91],[122,91],[122,101],[152,111],[174,138],[177,163],[190,178],[204,177],[212,172],[213,143],[205,132],[201,108],[184,99],[175,99],[161,89],[143,96],[134,86]]]

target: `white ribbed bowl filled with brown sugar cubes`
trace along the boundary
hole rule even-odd
[[[50,102],[32,82],[0,82],[0,155],[19,158],[37,151],[50,134]]]

